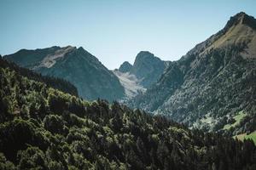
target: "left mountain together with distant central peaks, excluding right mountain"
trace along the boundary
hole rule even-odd
[[[137,54],[133,65],[127,61],[119,70],[109,71],[84,48],[51,47],[21,49],[3,56],[21,67],[44,76],[72,82],[84,99],[127,100],[157,82],[169,61],[162,61],[147,51]]]

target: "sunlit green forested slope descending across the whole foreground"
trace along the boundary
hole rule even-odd
[[[256,146],[125,105],[88,102],[0,65],[0,169],[246,169]]]

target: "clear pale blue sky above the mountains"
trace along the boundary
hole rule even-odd
[[[177,60],[255,0],[0,0],[0,54],[82,46],[109,69],[148,50]]]

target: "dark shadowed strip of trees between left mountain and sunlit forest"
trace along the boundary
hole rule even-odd
[[[6,59],[3,59],[1,55],[0,55],[0,67],[2,68],[9,67],[14,71],[19,72],[19,74],[23,77],[28,77],[29,79],[37,82],[44,82],[50,88],[56,88],[67,94],[79,96],[77,88],[72,83],[57,77],[42,76],[40,73],[30,71],[26,68],[16,65],[15,63],[12,63],[10,61],[7,61]]]

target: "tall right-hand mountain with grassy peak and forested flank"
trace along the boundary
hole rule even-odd
[[[133,107],[164,114],[207,131],[236,135],[256,130],[256,20],[245,13],[170,63]]]

